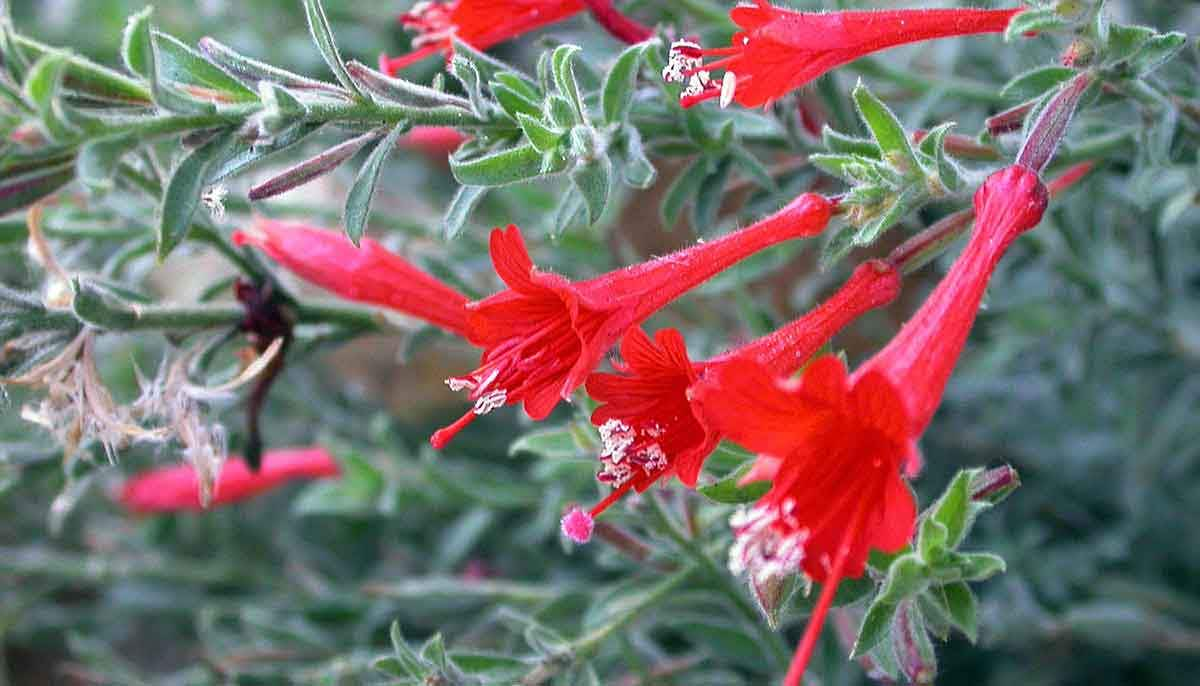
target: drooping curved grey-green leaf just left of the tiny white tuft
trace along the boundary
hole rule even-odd
[[[156,240],[160,261],[187,237],[192,218],[200,206],[200,194],[211,182],[212,172],[224,161],[235,136],[235,131],[227,131],[212,137],[175,167],[158,205]]]

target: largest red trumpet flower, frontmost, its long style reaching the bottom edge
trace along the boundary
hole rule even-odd
[[[821,596],[785,684],[800,682],[842,578],[863,573],[871,549],[912,536],[916,505],[901,477],[919,465],[917,439],[932,417],[974,323],[996,264],[1042,219],[1046,188],[1010,167],[974,197],[976,230],[920,309],[852,377],[835,357],[803,378],[778,380],[761,365],[721,368],[694,396],[718,431],[761,453],[748,480],[770,491],[731,524],[730,566],[752,582],[803,571]]]

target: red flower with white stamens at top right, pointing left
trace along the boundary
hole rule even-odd
[[[662,78],[686,82],[683,106],[720,97],[721,106],[768,104],[829,70],[905,43],[930,38],[996,34],[1021,12],[1012,10],[880,10],[797,12],[767,0],[739,5],[730,18],[742,30],[728,48],[703,49],[690,41],[671,46]],[[703,58],[720,58],[703,64]],[[724,70],[721,80],[709,77]]]

